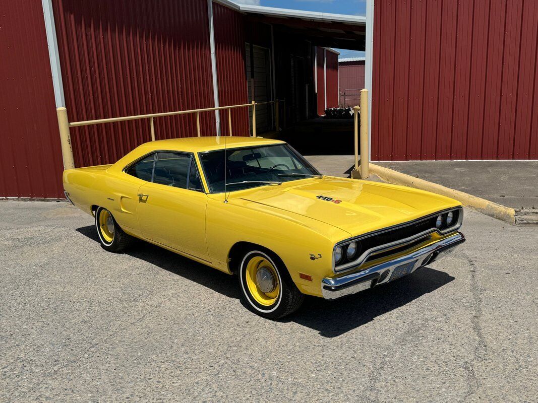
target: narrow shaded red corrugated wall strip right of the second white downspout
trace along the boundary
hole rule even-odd
[[[249,102],[245,75],[245,21],[242,14],[213,3],[215,54],[217,60],[218,104]],[[232,134],[250,135],[249,111],[232,110]],[[229,134],[228,111],[221,112],[221,134]]]

